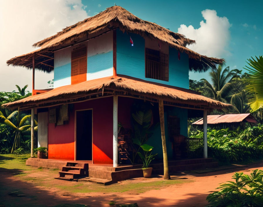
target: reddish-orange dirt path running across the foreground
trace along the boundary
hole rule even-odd
[[[215,191],[220,183],[230,181],[234,172],[245,172],[253,169],[263,170],[263,161],[245,168],[235,168],[224,171],[210,172],[206,174],[176,174],[173,179],[189,179],[194,182],[172,185],[159,190],[150,190],[140,194],[123,193],[69,193],[65,188],[55,188],[53,186],[67,183],[67,188],[76,185],[75,182],[67,182],[50,178],[47,182],[52,182],[50,188],[36,186],[36,183],[28,177],[27,181],[21,181],[19,177],[13,176],[15,171],[1,173],[1,185],[5,191],[19,188],[26,197],[14,198],[13,196],[3,195],[5,203],[13,203],[10,206],[53,206],[62,203],[80,203],[88,206],[107,206],[110,201],[116,203],[137,203],[140,207],[150,206],[176,206],[176,207],[203,207],[207,204],[206,197],[209,193]],[[38,174],[38,175],[36,175]],[[41,177],[43,173],[31,174],[31,176]],[[46,178],[47,179],[47,178]],[[48,178],[49,179],[49,178]],[[161,178],[154,178],[161,179]],[[133,181],[124,181],[133,182]],[[85,185],[89,185],[88,183]],[[117,184],[119,185],[119,184]],[[107,187],[107,186],[106,186]],[[105,188],[106,189],[106,188]],[[6,190],[6,191],[7,191]],[[9,191],[10,192],[10,191]],[[5,205],[8,207],[8,205]]]

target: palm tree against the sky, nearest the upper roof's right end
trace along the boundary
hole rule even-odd
[[[240,73],[241,71],[238,69],[230,70],[229,66],[222,70],[222,66],[219,65],[217,69],[213,69],[209,73],[213,85],[206,79],[201,79],[201,81],[205,83],[204,90],[210,94],[211,98],[227,103],[227,96],[233,88],[231,81]]]

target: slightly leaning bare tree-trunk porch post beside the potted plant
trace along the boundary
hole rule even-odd
[[[168,170],[168,158],[166,151],[166,139],[165,139],[165,128],[164,128],[164,109],[163,109],[163,100],[159,99],[159,115],[160,115],[160,125],[161,125],[161,138],[163,145],[163,179],[170,179],[169,170]]]

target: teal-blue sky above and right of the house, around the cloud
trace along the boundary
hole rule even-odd
[[[141,19],[155,22],[171,31],[178,32],[181,24],[200,27],[204,20],[201,11],[215,10],[219,17],[226,17],[230,23],[229,38],[225,52],[220,58],[226,60],[230,69],[242,69],[251,56],[263,55],[263,1],[89,1],[82,0],[88,15],[103,11],[114,2]],[[204,20],[205,21],[205,20]],[[224,31],[219,31],[224,33]],[[198,42],[197,42],[198,44]],[[213,48],[213,45],[210,45]],[[207,55],[207,54],[203,54]],[[243,72],[245,70],[243,69]],[[208,78],[208,73],[190,73],[190,79]]]

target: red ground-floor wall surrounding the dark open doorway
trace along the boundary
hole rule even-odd
[[[48,124],[48,158],[75,158],[75,110],[93,109],[93,162],[112,164],[113,98],[101,98],[74,104],[69,122],[55,127]]]

